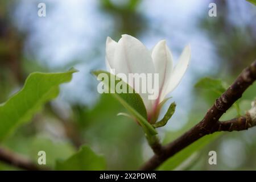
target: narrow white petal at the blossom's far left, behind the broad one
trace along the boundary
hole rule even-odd
[[[115,42],[114,40],[112,40],[109,36],[106,39],[106,68],[108,69],[108,71],[110,71],[111,68],[113,68],[113,65],[111,65],[110,63],[113,63],[114,61],[114,53],[115,53],[115,49],[117,47],[117,42]]]

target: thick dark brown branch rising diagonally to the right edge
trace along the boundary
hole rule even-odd
[[[153,170],[162,164],[165,160],[175,155],[177,152],[183,150],[183,148],[189,146],[189,144],[195,142],[196,140],[214,133],[215,131],[220,131],[218,129],[221,126],[221,129],[228,130],[238,130],[242,127],[238,127],[238,122],[246,122],[244,118],[235,119],[233,121],[220,123],[218,120],[228,110],[234,102],[241,98],[242,93],[253,84],[256,79],[256,60],[246,69],[242,71],[240,76],[237,77],[236,81],[226,90],[221,97],[219,97],[213,106],[207,111],[205,117],[192,129],[187,131],[181,137],[177,138],[173,142],[163,146],[160,154],[155,154],[152,156],[148,162],[142,166],[142,170]],[[233,123],[233,126],[231,126]],[[221,124],[221,125],[220,125]],[[228,126],[228,127],[227,127]],[[231,126],[231,127],[230,127]],[[244,127],[247,129],[248,125]]]

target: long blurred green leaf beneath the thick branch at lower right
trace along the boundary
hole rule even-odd
[[[170,159],[166,160],[159,168],[158,170],[174,170],[178,166],[180,166],[185,160],[187,160],[190,156],[195,154],[195,152],[200,151],[203,147],[207,146],[210,142],[212,142],[214,139],[219,137],[222,133],[217,132],[214,134],[207,135],[196,142],[192,143],[188,147],[181,150],[176,155],[172,156]]]

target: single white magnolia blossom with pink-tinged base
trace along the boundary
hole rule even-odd
[[[186,46],[181,53],[177,64],[173,65],[172,53],[166,45],[166,40],[158,42],[152,51],[149,51],[138,39],[130,35],[122,35],[115,42],[106,39],[106,67],[115,70],[115,74],[123,73],[158,73],[159,87],[156,100],[148,100],[148,94],[139,93],[142,97],[148,114],[148,121],[155,117],[160,102],[168,93],[179,84],[191,59],[191,49]],[[134,87],[134,85],[131,85]],[[134,87],[137,92],[139,88]]]

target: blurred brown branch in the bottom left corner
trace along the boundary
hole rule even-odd
[[[15,154],[14,152],[3,147],[0,148],[0,161],[29,171],[40,171],[46,169],[38,167],[27,158],[24,158],[19,154]]]

